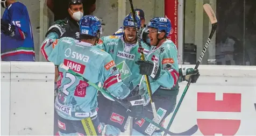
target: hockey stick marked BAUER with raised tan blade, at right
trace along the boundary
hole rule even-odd
[[[212,8],[211,8],[211,6],[210,6],[209,4],[204,4],[204,5],[203,5],[203,8],[204,8],[204,11],[207,13],[207,15],[208,15],[208,17],[210,18],[210,21],[211,21],[211,33],[210,33],[210,35],[209,35],[209,38],[207,39],[207,42],[206,42],[205,45],[204,45],[204,48],[203,48],[203,51],[202,51],[201,55],[199,56],[199,58],[198,58],[198,60],[197,60],[197,62],[196,62],[195,69],[197,69],[198,66],[200,65],[200,62],[201,62],[202,59],[203,59],[204,53],[207,51],[207,48],[208,48],[208,46],[209,46],[209,44],[210,44],[210,41],[211,41],[211,38],[212,38],[212,36],[214,35],[214,32],[215,32],[215,30],[216,30],[216,28],[217,28],[217,19],[216,19],[214,10],[212,10]],[[180,98],[179,103],[177,104],[177,107],[176,107],[176,109],[175,109],[175,111],[174,111],[174,113],[173,113],[172,118],[170,118],[169,124],[168,124],[168,126],[167,126],[167,130],[169,130],[170,125],[172,125],[172,123],[173,123],[173,120],[174,120],[174,118],[175,118],[175,116],[176,116],[176,114],[177,114],[177,111],[178,111],[179,108],[180,108],[180,105],[181,105],[181,103],[182,103],[182,101],[183,101],[183,99],[184,99],[184,96],[186,95],[186,93],[187,93],[187,91],[188,91],[188,88],[189,88],[190,83],[191,83],[191,77],[189,78],[189,81],[188,81],[188,83],[187,83],[187,85],[186,85],[186,88],[184,89],[184,92],[183,92],[183,94],[182,94],[182,96],[181,96],[181,98]],[[187,130],[186,132],[190,131],[191,129],[194,130],[195,128],[196,128],[196,130],[197,130],[197,129],[198,129],[198,126],[197,126],[197,125],[194,125],[193,127],[191,127],[191,128],[190,128],[189,130]],[[166,133],[164,133],[163,135],[166,135]]]

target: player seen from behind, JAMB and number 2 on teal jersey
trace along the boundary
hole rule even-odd
[[[126,98],[130,90],[120,80],[111,56],[94,47],[99,38],[101,22],[95,16],[80,20],[80,40],[61,38],[65,25],[55,25],[41,44],[41,53],[54,65],[65,65],[82,74],[90,82],[103,83],[113,96]],[[77,75],[59,67],[60,88],[55,99],[60,135],[100,135],[102,126],[97,117],[97,90]],[[135,112],[127,112],[130,116]],[[85,121],[84,124],[82,122]]]

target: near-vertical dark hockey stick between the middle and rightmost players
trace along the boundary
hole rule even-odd
[[[132,12],[132,17],[133,17],[134,27],[136,29],[137,40],[138,40],[139,48],[140,48],[140,58],[141,58],[141,60],[145,60],[143,49],[142,49],[141,42],[140,42],[140,32],[138,30],[138,24],[136,23],[135,11],[133,9],[132,0],[129,0],[129,1],[130,1],[130,5],[131,5],[131,12]],[[148,91],[148,95],[150,96],[150,102],[151,102],[151,106],[152,106],[153,115],[154,115],[154,118],[157,118],[158,117],[157,110],[155,109],[155,103],[152,100],[152,90],[151,90],[151,85],[150,85],[150,79],[148,78],[147,75],[144,75],[144,76],[145,76],[146,83],[147,83],[147,91]]]

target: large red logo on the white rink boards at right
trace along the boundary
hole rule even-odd
[[[203,135],[234,135],[237,133],[241,120],[240,119],[218,119],[210,117],[208,114],[229,114],[241,112],[241,94],[223,94],[222,101],[216,101],[215,93],[197,93],[197,112],[204,113],[210,118],[197,118],[197,125]],[[256,104],[255,104],[256,106]],[[256,108],[256,107],[255,107]],[[214,119],[213,119],[214,118]]]

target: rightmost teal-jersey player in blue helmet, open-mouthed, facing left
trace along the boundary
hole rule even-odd
[[[157,109],[158,117],[154,120],[161,124],[163,120],[173,112],[176,105],[176,97],[179,92],[179,65],[177,49],[174,43],[167,39],[171,25],[168,18],[155,17],[147,25],[148,37],[152,46],[150,53],[144,60],[138,60],[141,75],[148,75],[152,89],[152,99]],[[153,119],[152,106],[148,95],[145,77],[141,78],[139,94],[145,100],[144,116]],[[148,110],[151,109],[151,110]],[[161,135],[161,130],[142,118],[137,118],[133,124],[132,135]]]

